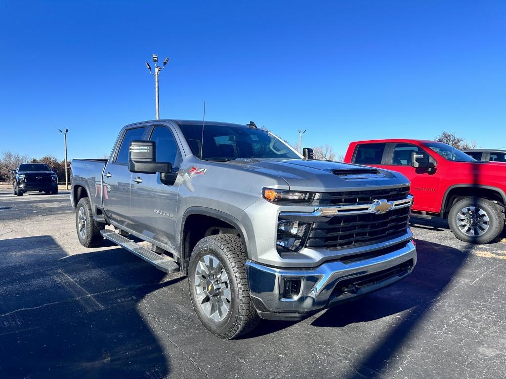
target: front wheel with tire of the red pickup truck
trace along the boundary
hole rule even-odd
[[[473,217],[469,214],[469,211],[472,211],[473,208],[478,209],[478,213],[481,213],[481,216],[486,215],[487,220],[481,221],[483,225],[479,229],[479,232],[482,232],[481,235],[476,235],[478,226],[472,226],[476,225],[476,221],[473,221]],[[466,209],[468,212],[462,212]],[[473,211],[471,213],[476,214]],[[470,218],[465,218],[465,215],[470,216]],[[484,217],[478,217],[478,219],[483,220]],[[496,240],[502,232],[504,228],[504,214],[501,207],[490,200],[469,197],[453,204],[448,215],[448,224],[455,237],[460,241],[474,244],[488,244]],[[486,229],[482,230],[483,228]],[[474,233],[475,235],[470,235],[470,233]]]

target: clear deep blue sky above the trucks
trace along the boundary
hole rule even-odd
[[[304,146],[506,145],[506,2],[0,2],[0,151],[109,153],[124,124],[254,120]]]

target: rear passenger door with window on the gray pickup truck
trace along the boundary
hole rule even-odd
[[[128,169],[128,154],[130,142],[143,139],[146,129],[146,126],[125,129],[104,170],[104,210],[109,220],[119,227],[132,228],[129,222],[132,173]]]

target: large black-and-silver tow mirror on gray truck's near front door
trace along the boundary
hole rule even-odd
[[[172,164],[156,162],[156,148],[154,141],[132,141],[129,147],[128,169],[130,172],[155,174],[162,176],[172,174]]]

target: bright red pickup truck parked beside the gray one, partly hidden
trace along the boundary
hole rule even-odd
[[[506,164],[476,161],[437,141],[352,142],[345,162],[390,169],[411,181],[412,214],[448,218],[461,241],[486,244],[504,228]]]

